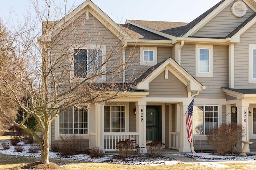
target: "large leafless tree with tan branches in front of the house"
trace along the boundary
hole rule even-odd
[[[134,71],[139,66],[139,51],[130,47],[124,59],[123,34],[113,34],[110,25],[102,25],[85,9],[68,18],[51,0],[45,0],[44,10],[38,9],[37,2],[32,4],[38,18],[26,16],[26,24],[3,35],[10,66],[0,71],[0,93],[27,116],[16,123],[2,105],[0,111],[38,140],[42,163],[48,164],[50,123],[70,107],[126,95],[130,85],[123,83],[124,70],[134,73],[129,83],[139,76],[139,71]],[[52,16],[59,18],[50,21]],[[42,33],[37,29],[38,22],[42,23]],[[39,123],[44,140],[24,124],[31,116]]]

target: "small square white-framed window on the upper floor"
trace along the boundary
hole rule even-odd
[[[140,65],[154,66],[157,64],[157,47],[140,47]]]

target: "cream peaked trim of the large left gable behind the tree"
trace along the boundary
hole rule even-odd
[[[107,16],[98,6],[96,6],[91,0],[86,0],[62,20],[57,21],[46,33],[43,33],[38,37],[39,41],[51,41],[51,38],[57,35],[60,31],[60,27],[63,29],[68,26],[72,21],[80,16],[84,12],[90,12],[97,20],[99,20],[105,27],[107,27],[114,35],[119,39],[132,39],[132,37],[126,33],[117,23],[115,23],[109,16]]]

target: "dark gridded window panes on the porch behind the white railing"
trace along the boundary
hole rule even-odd
[[[124,115],[124,106],[104,106],[104,132],[125,132]]]

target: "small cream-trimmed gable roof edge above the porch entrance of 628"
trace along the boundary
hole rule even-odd
[[[169,71],[174,74],[174,76],[187,86],[188,92],[198,92],[205,88],[205,86],[198,82],[171,57],[150,67],[144,74],[135,80],[136,84],[132,86],[132,88],[134,90],[149,90],[149,83],[163,71],[165,71],[165,78],[168,78]]]

